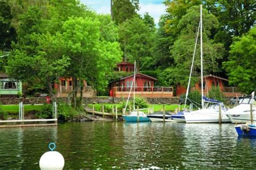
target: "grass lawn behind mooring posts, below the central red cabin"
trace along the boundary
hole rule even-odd
[[[122,112],[121,104],[104,104],[105,112],[111,113],[113,105],[117,105],[118,112]],[[87,106],[92,108],[92,104],[89,104]],[[161,109],[163,108],[163,105],[158,105],[158,104],[153,104],[153,105],[149,105],[149,106],[154,107],[154,112],[161,111]],[[178,109],[178,107],[179,107],[179,105],[165,105],[165,111],[174,112],[176,110],[176,108]],[[102,104],[95,104],[95,111],[100,111],[101,108],[102,108]],[[183,106],[180,106],[180,109],[182,109],[182,108],[183,108]],[[147,113],[147,110],[145,110],[144,112]]]

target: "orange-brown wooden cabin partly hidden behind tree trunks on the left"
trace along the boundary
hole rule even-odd
[[[95,90],[91,86],[87,86],[86,80],[83,80],[83,84],[83,97],[95,97]],[[68,97],[73,91],[72,78],[59,78],[59,82],[54,84],[54,89],[57,90],[57,97]],[[77,96],[80,97],[80,89],[78,89]]]

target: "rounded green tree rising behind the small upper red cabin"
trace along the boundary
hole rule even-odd
[[[119,42],[124,57],[130,62],[136,60],[137,69],[145,69],[143,63],[151,60],[153,50],[153,33],[149,26],[140,18],[126,20],[119,25]]]

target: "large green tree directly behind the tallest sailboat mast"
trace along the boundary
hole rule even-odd
[[[181,85],[187,85],[188,76],[191,68],[191,58],[193,56],[195,37],[198,30],[200,21],[199,6],[192,6],[187,10],[177,25],[177,29],[180,30],[178,39],[171,46],[170,54],[173,58],[173,65],[166,71],[161,73],[161,76],[166,76],[166,73],[170,73],[173,78],[169,79],[171,85],[180,83]],[[218,71],[218,60],[223,56],[223,45],[220,43],[213,43],[210,39],[211,30],[218,28],[218,20],[207,10],[203,10],[203,51],[204,51],[204,74],[213,73]],[[198,42],[199,43],[199,42]],[[193,76],[199,76],[200,74],[200,45],[197,45],[196,57],[194,62]],[[210,63],[210,64],[206,64]],[[196,79],[196,78],[195,78]],[[194,82],[195,80],[193,80]]]

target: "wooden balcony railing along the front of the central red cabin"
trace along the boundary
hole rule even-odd
[[[130,97],[135,93],[139,97],[173,97],[173,87],[135,87],[135,92],[131,87],[113,87],[113,97]]]

